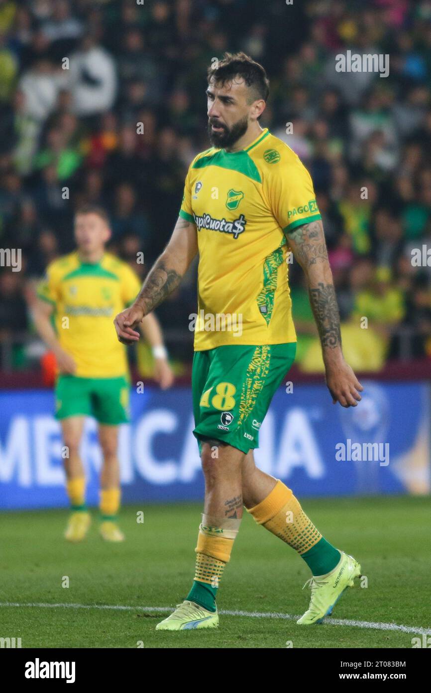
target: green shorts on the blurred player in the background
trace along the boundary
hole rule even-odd
[[[99,423],[118,426],[129,421],[130,384],[120,378],[78,378],[59,375],[55,384],[55,418],[94,416]]]

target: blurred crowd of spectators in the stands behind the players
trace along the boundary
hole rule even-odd
[[[389,76],[337,72],[347,49],[389,55]],[[430,1],[0,0],[0,247],[23,254],[21,272],[1,268],[0,369],[40,356],[35,283],[73,249],[80,205],[109,211],[111,248],[145,276],[208,148],[206,68],[238,50],[268,71],[262,127],[313,177],[346,358],[431,358],[431,267],[412,263],[431,247]],[[290,267],[297,360],[320,369]],[[196,265],[157,311],[178,363],[192,358],[195,280]]]

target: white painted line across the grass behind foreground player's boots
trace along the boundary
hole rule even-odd
[[[165,611],[174,611],[170,606],[122,606],[121,604],[44,604],[38,602],[30,602],[29,604],[19,604],[19,602],[0,602],[2,606],[37,606],[39,608],[101,608],[112,609],[113,611],[149,611],[150,613],[164,613]],[[299,616],[293,616],[288,613],[275,613],[273,611],[229,611],[221,610],[220,615],[225,616],[246,616],[249,618],[280,618],[287,621],[297,621]],[[326,618],[324,624],[331,626],[353,626],[354,628],[367,628],[378,631],[401,631],[402,633],[416,633],[416,635],[431,635],[430,628],[421,628],[416,626],[402,626],[396,623],[380,623],[373,621],[354,621],[343,618]]]

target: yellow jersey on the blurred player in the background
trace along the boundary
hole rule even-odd
[[[124,344],[113,319],[140,291],[131,267],[105,253],[99,263],[84,263],[77,252],[53,261],[37,295],[55,306],[59,343],[76,362],[82,378],[117,378],[128,372]]]

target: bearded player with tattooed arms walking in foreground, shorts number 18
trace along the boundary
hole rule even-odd
[[[192,393],[205,502],[192,588],[156,627],[177,631],[219,624],[217,588],[243,505],[309,566],[311,601],[298,623],[313,624],[354,585],[360,565],[331,545],[291,489],[259,470],[253,459],[270,400],[295,358],[289,251],[305,272],[333,403],[356,406],[363,387],[342,356],[311,177],[297,155],[259,125],[268,98],[264,68],[244,53],[226,53],[208,71],[206,94],[212,147],[192,161],[172,238],[133,306],[115,320],[120,341],[138,340],[140,321],[178,286],[199,252]]]

